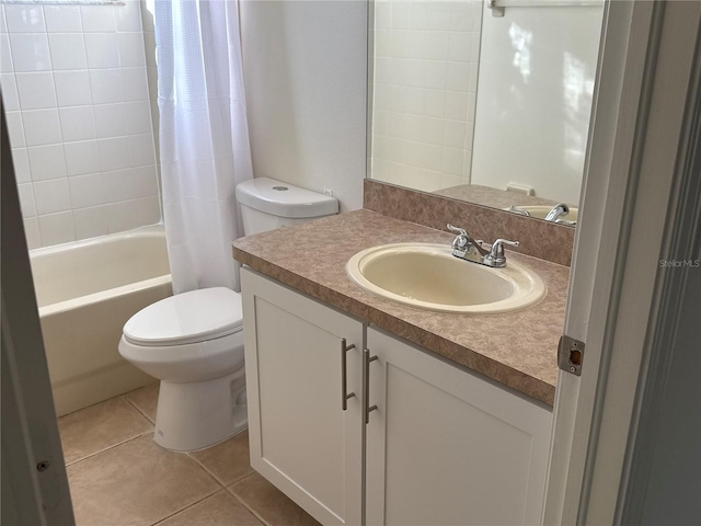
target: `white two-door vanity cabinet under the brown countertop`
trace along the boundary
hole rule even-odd
[[[241,274],[254,469],[322,524],[540,523],[550,408]]]

